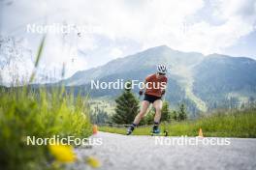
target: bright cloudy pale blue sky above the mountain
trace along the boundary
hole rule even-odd
[[[23,63],[17,64],[22,76],[33,69],[43,37],[28,33],[28,24],[86,28],[79,36],[48,33],[40,72],[49,76],[57,77],[63,63],[68,77],[162,44],[256,59],[254,0],[2,0],[0,5],[2,38],[13,38],[23,49]],[[2,76],[10,81],[7,70]]]

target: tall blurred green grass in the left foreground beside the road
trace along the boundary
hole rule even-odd
[[[27,136],[91,135],[86,100],[66,95],[64,89],[47,92],[0,88],[0,164],[3,169],[51,169],[48,146],[26,145]]]

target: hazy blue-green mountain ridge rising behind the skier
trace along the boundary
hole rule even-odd
[[[180,100],[187,102],[190,110],[206,112],[216,105],[213,103],[221,105],[226,102],[225,100],[232,96],[231,94],[236,94],[239,102],[256,96],[256,76],[252,73],[256,72],[255,60],[216,53],[203,55],[198,52],[181,52],[167,45],[148,48],[133,55],[112,60],[106,65],[76,72],[62,83],[66,86],[88,86],[92,79],[109,81],[113,80],[113,77],[124,80],[133,78],[144,80],[147,74],[155,72],[157,64],[167,65],[170,70],[168,77],[172,80],[169,82],[170,87],[176,89],[176,92],[171,89],[167,99],[173,104],[177,104]],[[95,93],[100,95],[101,91]],[[116,95],[115,92],[109,94],[102,92],[102,94]],[[250,96],[244,94],[250,94]],[[172,96],[176,96],[176,99]]]

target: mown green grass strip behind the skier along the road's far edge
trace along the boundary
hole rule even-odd
[[[256,137],[256,108],[243,111],[218,111],[194,121],[162,124],[170,136],[197,136],[199,128],[208,137]],[[125,134],[126,128],[100,127],[99,130]],[[151,127],[136,128],[135,135],[150,134]]]

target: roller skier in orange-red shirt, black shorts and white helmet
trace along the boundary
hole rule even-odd
[[[133,130],[139,125],[140,121],[144,117],[147,108],[150,104],[155,108],[154,125],[152,128],[152,134],[159,134],[159,124],[161,119],[161,109],[162,109],[162,97],[165,94],[167,87],[167,68],[165,65],[157,66],[157,72],[148,75],[144,81],[144,89],[141,89],[140,96],[144,95],[144,100],[142,101],[142,107],[140,113],[135,117],[132,125],[127,129],[127,135],[130,135]]]

